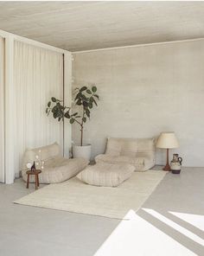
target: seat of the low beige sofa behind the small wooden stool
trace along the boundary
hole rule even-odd
[[[64,182],[85,169],[88,163],[84,158],[68,159],[64,157],[53,157],[45,163],[44,169],[41,170],[39,182],[47,184]],[[24,181],[27,180],[26,171],[22,170]],[[34,176],[30,176],[30,182],[35,182],[34,178]]]

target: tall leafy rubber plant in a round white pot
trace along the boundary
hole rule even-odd
[[[46,113],[53,114],[54,118],[57,118],[60,122],[64,121],[64,118],[68,118],[70,124],[76,123],[80,126],[80,145],[73,145],[73,157],[84,157],[90,160],[91,157],[91,145],[83,144],[84,125],[87,119],[90,119],[91,110],[93,106],[98,106],[97,101],[99,95],[96,94],[97,87],[82,86],[74,90],[73,109],[77,107],[78,112],[72,112],[72,108],[64,106],[63,100],[56,99],[54,97],[48,102]]]

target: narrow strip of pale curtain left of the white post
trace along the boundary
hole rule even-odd
[[[4,182],[4,70],[5,44],[0,36],[0,182]]]

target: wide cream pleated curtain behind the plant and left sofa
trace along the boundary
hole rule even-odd
[[[63,99],[63,55],[15,42],[14,84],[17,176],[21,170],[22,155],[26,148],[58,142],[62,150],[63,125],[53,117],[47,117],[45,111],[52,96]]]

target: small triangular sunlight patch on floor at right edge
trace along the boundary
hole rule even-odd
[[[176,213],[176,212],[169,212],[170,214],[175,215],[177,218],[181,219],[182,221],[186,221],[189,224],[193,225],[204,231],[204,215],[199,214],[183,214],[183,213]]]

